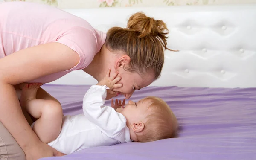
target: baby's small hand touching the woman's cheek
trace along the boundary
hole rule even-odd
[[[122,84],[116,84],[118,81],[121,80],[121,76],[119,75],[118,72],[114,73],[113,76],[110,76],[110,70],[111,69],[108,69],[108,72],[104,77],[104,79],[99,81],[99,83],[96,85],[106,85],[107,87],[109,87],[109,90],[107,91],[107,93],[115,94],[115,92],[113,92],[112,90],[114,88],[122,87]]]

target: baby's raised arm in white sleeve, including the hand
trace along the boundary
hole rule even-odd
[[[108,75],[87,91],[83,99],[83,111],[87,119],[98,126],[105,135],[115,138],[125,128],[126,119],[112,107],[104,106],[107,90],[111,91],[111,87],[113,89],[121,86],[115,85],[120,80],[118,74],[114,74],[111,79]]]

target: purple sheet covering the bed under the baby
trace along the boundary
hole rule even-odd
[[[61,102],[64,115],[82,113],[89,87],[43,86]],[[180,126],[177,138],[87,148],[40,160],[256,160],[256,88],[145,87],[131,100],[145,96],[158,96],[172,108]]]

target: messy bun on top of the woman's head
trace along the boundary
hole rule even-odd
[[[127,29],[140,32],[139,38],[168,34],[166,24],[162,20],[154,20],[143,12],[137,12],[129,18]]]

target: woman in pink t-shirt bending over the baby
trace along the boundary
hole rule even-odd
[[[111,74],[119,71],[122,87],[113,90],[114,94],[108,93],[108,99],[119,94],[128,99],[134,90],[160,76],[168,34],[162,20],[137,13],[130,17],[127,28],[113,27],[104,34],[86,20],[50,6],[4,2],[0,10],[3,159],[9,156],[23,160],[26,155],[27,160],[37,160],[62,155],[42,143],[26,122],[15,91],[17,84],[48,83],[80,69],[99,81],[111,68]],[[44,90],[38,90],[37,97],[54,99]]]

